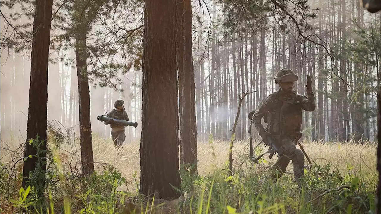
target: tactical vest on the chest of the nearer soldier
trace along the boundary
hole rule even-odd
[[[287,105],[283,107],[282,97],[277,96],[278,91],[268,96],[267,112],[264,122],[267,131],[275,135],[300,138],[302,124],[301,96],[296,91],[287,97]],[[282,110],[282,112],[281,112]]]

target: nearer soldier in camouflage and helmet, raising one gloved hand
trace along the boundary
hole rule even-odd
[[[281,177],[292,160],[296,182],[301,185],[300,179],[304,177],[304,154],[300,149],[296,149],[296,145],[302,136],[302,109],[312,112],[316,108],[311,77],[307,75],[307,97],[293,90],[298,75],[292,70],[282,69],[274,79],[275,84],[279,84],[279,90],[259,103],[253,115],[253,124],[262,139],[270,135],[275,141],[280,142],[282,155],[272,166],[274,174],[271,177]],[[267,123],[266,128],[261,123],[262,118]]]

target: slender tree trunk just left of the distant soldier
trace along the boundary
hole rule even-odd
[[[94,172],[93,143],[90,121],[90,89],[86,64],[86,30],[78,29],[75,38],[75,61],[77,62],[79,132],[81,144],[82,173]]]

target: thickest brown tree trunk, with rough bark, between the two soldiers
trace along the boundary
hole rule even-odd
[[[176,2],[146,0],[144,9],[140,193],[178,198],[179,116]],[[163,125],[166,121],[167,125]]]

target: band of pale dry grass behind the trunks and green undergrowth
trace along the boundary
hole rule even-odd
[[[258,144],[255,141],[253,146]],[[304,150],[306,150],[309,158],[317,164],[331,164],[342,173],[358,174],[368,178],[369,181],[377,179],[376,174],[376,145],[369,142],[360,144],[353,141],[349,142],[303,142]],[[16,150],[21,144],[13,142],[0,141],[0,163],[6,163],[11,160],[15,153],[11,152]],[[297,145],[296,147],[299,148]],[[252,164],[248,159],[249,146],[247,141],[235,142],[233,147],[233,158],[235,160],[234,166],[239,167],[245,164]],[[256,153],[264,152],[268,147],[260,144]],[[229,160],[229,142],[227,141],[201,141],[197,145],[198,150],[198,172],[201,176],[205,176],[216,168],[222,169],[226,166]],[[64,143],[59,146],[59,149],[53,149],[56,155],[59,155],[63,164],[73,165],[80,163],[80,144],[78,141],[72,143]],[[22,153],[18,152],[19,157]],[[124,177],[129,180],[140,176],[140,154],[139,154],[139,141],[125,143],[120,152],[114,148],[111,139],[104,139],[98,136],[93,137],[93,154],[94,162],[96,165],[107,163],[115,166],[122,173]],[[259,168],[270,166],[274,164],[277,155],[270,160],[268,155],[264,156],[264,163],[257,164]],[[243,162],[243,163],[242,163]],[[307,165],[307,159],[305,158]],[[293,165],[288,165],[287,172],[292,174]],[[129,188],[134,188],[131,184]]]

